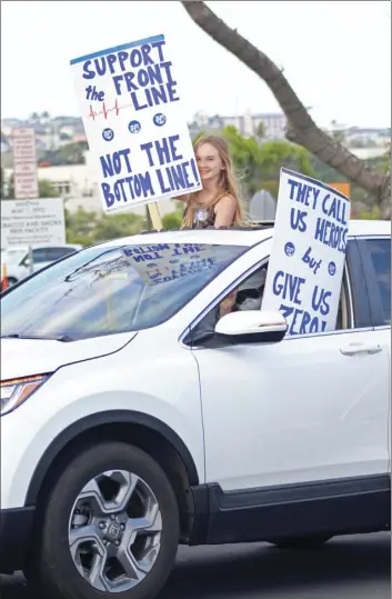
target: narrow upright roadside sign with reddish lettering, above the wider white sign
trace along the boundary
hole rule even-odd
[[[12,130],[12,151],[16,199],[38,198],[36,131],[32,127]]]

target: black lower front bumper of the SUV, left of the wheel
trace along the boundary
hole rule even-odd
[[[0,510],[0,573],[21,570],[32,540],[34,508]]]

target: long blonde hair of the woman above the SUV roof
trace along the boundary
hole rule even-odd
[[[211,202],[211,208],[214,208],[222,196],[231,196],[235,200],[235,212],[232,224],[243,224],[244,213],[240,197],[240,189],[235,179],[234,166],[230,156],[229,143],[220,136],[203,134],[197,139],[193,144],[194,152],[203,146],[210,143],[219,153],[223,163],[223,170],[221,179],[219,181],[219,188],[217,190],[215,198]],[[192,227],[194,213],[198,209],[198,201],[195,193],[190,193],[187,198],[187,214],[183,219],[182,227]]]

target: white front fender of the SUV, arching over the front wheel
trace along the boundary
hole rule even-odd
[[[60,368],[6,417],[2,509],[24,505],[36,468],[56,437],[79,420],[113,410],[141,412],[163,422],[188,448],[199,482],[204,481],[198,367],[192,353],[179,345],[178,330],[177,321],[173,328],[168,323],[143,331],[115,355]],[[23,443],[18,443],[21,433]]]

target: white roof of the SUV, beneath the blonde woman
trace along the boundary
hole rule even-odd
[[[255,246],[273,237],[273,221],[252,223],[248,227],[228,229],[181,229],[168,231],[143,231],[122,239],[112,239],[100,246],[111,248],[122,246],[153,246],[157,243],[218,243],[222,246]],[[351,220],[349,236],[391,234],[391,223],[386,220]]]

